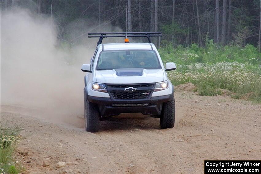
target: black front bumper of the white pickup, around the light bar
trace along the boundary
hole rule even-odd
[[[111,100],[111,98],[87,96],[89,102],[99,106],[101,116],[117,116],[121,113],[142,113],[143,115],[160,115],[162,104],[173,99],[169,95],[150,97],[150,99]],[[112,104],[138,104],[149,103],[149,106],[112,106]]]

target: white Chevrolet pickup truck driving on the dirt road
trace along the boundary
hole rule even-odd
[[[99,130],[103,117],[121,113],[142,113],[160,118],[162,129],[173,128],[175,121],[174,87],[166,71],[174,63],[162,63],[150,37],[159,32],[88,33],[99,37],[90,64],[83,64],[84,117],[88,132]],[[147,37],[149,43],[130,43],[126,37]],[[123,43],[102,44],[106,37],[126,37]]]

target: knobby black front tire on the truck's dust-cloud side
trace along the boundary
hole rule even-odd
[[[87,132],[98,132],[100,127],[99,108],[86,100],[85,102],[85,130]]]

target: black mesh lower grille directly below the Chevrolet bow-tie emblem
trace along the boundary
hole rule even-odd
[[[115,99],[146,99],[151,91],[110,91]]]

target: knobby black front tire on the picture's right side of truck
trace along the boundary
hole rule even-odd
[[[169,102],[163,103],[161,116],[160,116],[160,127],[162,129],[173,128],[175,123],[175,99]]]

